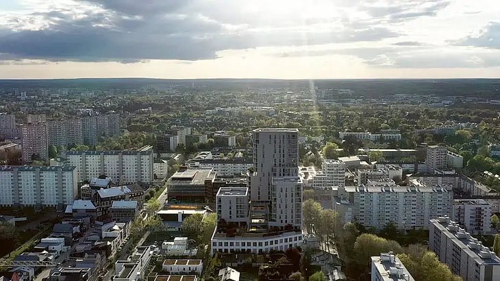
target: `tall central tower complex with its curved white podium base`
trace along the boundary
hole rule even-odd
[[[214,252],[248,252],[262,254],[271,250],[285,251],[302,245],[302,179],[299,177],[298,130],[256,129],[253,131],[253,171],[248,172],[249,215],[234,217],[238,222],[221,223],[233,211],[232,196],[219,193],[218,225],[212,235]],[[231,191],[229,191],[231,193]],[[236,202],[245,200],[247,191],[234,195]],[[225,198],[228,197],[228,198]],[[229,207],[231,206],[231,207]],[[243,207],[240,210],[245,210]],[[240,213],[241,214],[241,213]],[[225,220],[223,220],[225,221]],[[233,233],[229,226],[248,222],[247,231]]]

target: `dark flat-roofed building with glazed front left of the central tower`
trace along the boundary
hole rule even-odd
[[[179,168],[166,182],[168,202],[204,203],[210,199],[207,191],[216,177],[213,169],[188,170]]]

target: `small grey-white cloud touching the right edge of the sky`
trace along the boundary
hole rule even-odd
[[[500,23],[491,22],[477,35],[469,35],[459,40],[451,41],[458,46],[477,46],[488,49],[500,49]]]

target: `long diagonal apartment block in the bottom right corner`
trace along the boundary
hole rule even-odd
[[[449,217],[431,219],[429,250],[467,281],[500,280],[500,259]]]

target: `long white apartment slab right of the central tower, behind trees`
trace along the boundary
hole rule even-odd
[[[334,208],[345,222],[366,227],[388,222],[401,230],[429,228],[429,219],[451,213],[453,192],[441,186],[399,186],[393,180],[368,180],[366,185],[334,187]]]

